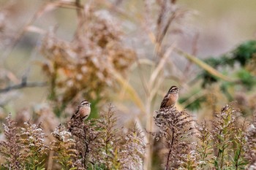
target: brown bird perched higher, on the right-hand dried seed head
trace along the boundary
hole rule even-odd
[[[173,85],[168,90],[167,94],[165,95],[165,98],[162,100],[160,109],[163,107],[174,107],[178,100],[178,88],[177,86]]]

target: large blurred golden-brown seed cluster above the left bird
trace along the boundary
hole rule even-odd
[[[89,99],[106,97],[103,90],[115,87],[113,71],[125,74],[135,61],[135,52],[121,41],[117,24],[92,10],[80,20],[71,42],[59,39],[53,32],[42,41],[41,51],[47,58],[42,70],[51,88],[58,87],[54,97],[61,101],[69,101],[78,92]]]

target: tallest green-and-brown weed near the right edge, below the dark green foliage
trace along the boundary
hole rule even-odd
[[[234,162],[232,162],[231,158],[235,158],[234,154],[236,154],[236,152],[244,152],[241,150],[241,146],[244,145],[244,141],[241,140],[244,134],[242,131],[239,131],[240,127],[238,125],[239,110],[234,108],[232,103],[227,104],[222,108],[220,113],[215,115],[213,120],[213,163],[217,169],[226,169],[234,166]],[[237,140],[240,141],[234,144]],[[243,158],[238,159],[236,160],[235,158],[234,161],[243,161]]]

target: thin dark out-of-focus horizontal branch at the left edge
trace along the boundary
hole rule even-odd
[[[18,85],[10,85],[6,88],[0,89],[0,93],[7,93],[10,90],[17,90],[20,88],[35,88],[35,87],[44,87],[47,85],[47,82],[27,82],[26,79],[23,79]]]

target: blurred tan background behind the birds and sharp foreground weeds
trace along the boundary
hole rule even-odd
[[[255,112],[256,1],[0,1],[0,121],[90,117],[112,103],[119,123],[154,131],[172,85],[199,120],[237,101]]]

